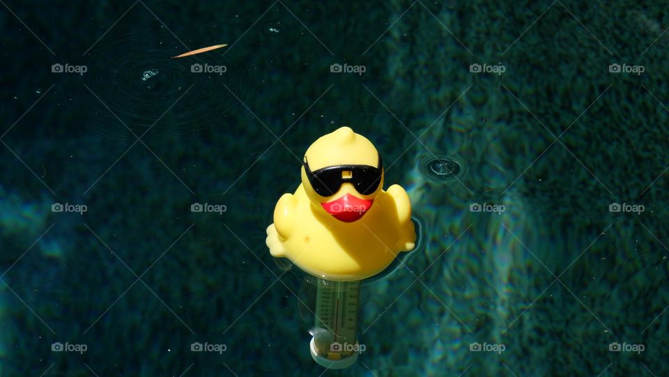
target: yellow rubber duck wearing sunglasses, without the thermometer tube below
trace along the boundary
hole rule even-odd
[[[409,197],[399,185],[383,191],[383,162],[367,138],[348,127],[326,134],[309,146],[301,170],[302,183],[279,199],[267,228],[272,256],[351,282],[414,248]]]

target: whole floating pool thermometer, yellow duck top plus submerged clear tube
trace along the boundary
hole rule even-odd
[[[284,194],[267,228],[275,257],[316,279],[316,321],[309,344],[323,367],[357,360],[360,281],[415,247],[411,205],[399,185],[383,190],[383,162],[371,142],[348,127],[314,141],[302,161],[302,183]]]

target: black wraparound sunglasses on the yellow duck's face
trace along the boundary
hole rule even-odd
[[[363,195],[369,195],[376,191],[381,183],[381,171],[383,171],[383,161],[380,153],[378,154],[378,167],[369,165],[336,165],[333,167],[324,167],[316,171],[309,169],[309,162],[305,156],[305,171],[309,183],[316,194],[321,197],[330,197],[339,191],[343,183],[351,183],[357,192]],[[350,171],[348,176],[342,176],[344,171]]]

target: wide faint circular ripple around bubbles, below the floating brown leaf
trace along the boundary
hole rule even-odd
[[[224,116],[249,100],[249,70],[224,49],[171,59],[183,52],[174,37],[160,33],[102,38],[86,55],[82,77],[94,93],[84,106],[88,123],[123,142],[134,141],[128,128],[151,141],[219,132]]]

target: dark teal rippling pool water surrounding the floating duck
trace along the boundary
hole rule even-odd
[[[661,4],[91,5],[1,13],[0,376],[668,374]],[[423,246],[325,371],[265,230],[343,125]]]

